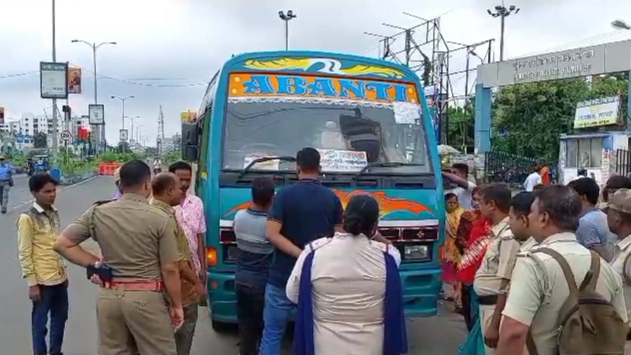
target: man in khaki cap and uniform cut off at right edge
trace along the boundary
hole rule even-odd
[[[622,276],[627,316],[631,316],[631,190],[611,195],[606,212],[609,229],[618,237],[611,267]],[[625,344],[625,354],[631,354],[631,342]]]

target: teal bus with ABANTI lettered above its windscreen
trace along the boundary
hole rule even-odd
[[[406,316],[437,313],[444,197],[422,83],[409,68],[329,52],[233,56],[206,89],[194,122],[182,123],[183,158],[196,163],[208,231],[208,309],[213,328],[237,322],[233,217],[251,183],[297,181],[295,155],[321,153],[321,181],[345,206],[373,196],[379,231],[401,252]]]

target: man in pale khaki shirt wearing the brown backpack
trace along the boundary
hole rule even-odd
[[[581,198],[567,186],[546,186],[535,192],[529,231],[538,245],[520,253],[504,308],[498,355],[521,354],[530,333],[538,355],[556,355],[558,318],[570,295],[560,264],[539,248],[557,251],[569,264],[577,284],[591,268],[591,253],[576,240]],[[628,322],[622,279],[607,263],[600,264],[596,292]],[[531,353],[532,354],[532,353]]]

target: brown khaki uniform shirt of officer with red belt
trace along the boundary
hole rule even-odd
[[[81,243],[92,237],[115,277],[162,280],[162,263],[180,260],[168,214],[146,198],[126,193],[121,200],[97,204],[68,226]]]

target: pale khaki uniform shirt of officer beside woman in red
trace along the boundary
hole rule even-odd
[[[493,239],[473,282],[478,296],[495,296],[502,291],[502,280],[510,280],[519,252],[519,242],[510,231],[509,217],[493,226],[491,231]]]

